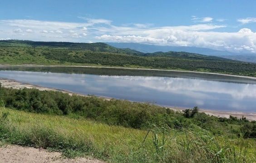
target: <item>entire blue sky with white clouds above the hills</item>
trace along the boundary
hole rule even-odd
[[[256,54],[256,0],[1,0],[0,39]]]

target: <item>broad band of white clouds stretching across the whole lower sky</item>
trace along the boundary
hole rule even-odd
[[[0,20],[1,38],[41,41],[58,41],[62,38],[62,41],[68,42],[133,42],[256,53],[256,33],[249,28],[238,29],[237,32],[216,32],[215,30],[225,30],[228,26],[212,23],[162,27],[130,23],[116,26],[105,19],[84,18],[84,20],[85,23]],[[212,18],[193,16],[192,20],[207,22],[212,21]],[[29,31],[34,31],[34,34],[29,34]],[[28,36],[22,38],[22,35],[18,35],[23,32],[27,32]],[[47,37],[42,37],[42,34]],[[55,34],[61,34],[61,37]]]

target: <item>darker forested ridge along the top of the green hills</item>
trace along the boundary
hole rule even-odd
[[[220,58],[215,56],[207,56],[197,53],[188,52],[155,52],[142,53],[130,48],[115,48],[106,43],[71,43],[71,42],[43,42],[30,40],[0,40],[0,45],[5,46],[29,46],[29,47],[49,47],[49,48],[69,48],[73,50],[85,50],[88,52],[108,52],[128,54],[143,57],[172,57],[172,58],[187,58],[187,59],[204,59],[204,60],[223,60],[233,61],[231,59]]]

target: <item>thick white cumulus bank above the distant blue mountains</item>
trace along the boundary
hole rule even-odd
[[[113,42],[148,43],[165,46],[191,46],[227,50],[230,52],[256,52],[256,33],[241,29],[236,33],[190,31],[176,28],[152,29],[143,35],[101,35],[100,40]]]

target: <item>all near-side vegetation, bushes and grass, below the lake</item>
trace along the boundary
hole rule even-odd
[[[198,108],[0,87],[1,143],[127,163],[254,163],[256,122]]]

